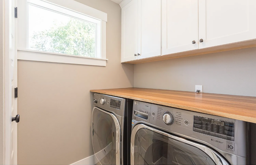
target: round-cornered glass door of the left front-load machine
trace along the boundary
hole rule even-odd
[[[120,164],[120,132],[120,125],[115,115],[93,108],[93,150],[102,165]]]

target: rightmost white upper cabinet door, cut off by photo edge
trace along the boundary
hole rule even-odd
[[[199,0],[199,48],[256,39],[256,0]]]

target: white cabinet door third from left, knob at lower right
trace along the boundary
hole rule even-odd
[[[198,0],[162,0],[162,54],[195,49],[198,49]]]

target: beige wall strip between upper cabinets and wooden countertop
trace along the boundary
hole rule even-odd
[[[256,48],[134,65],[134,87],[256,96]]]

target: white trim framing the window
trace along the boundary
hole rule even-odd
[[[106,66],[106,22],[107,13],[86,6],[74,0],[47,0],[47,2],[58,5],[68,10],[92,17],[101,21],[101,46],[97,50],[101,52],[100,58],[72,56],[67,54],[58,54],[51,52],[41,52],[35,50],[28,50],[28,16],[27,16],[27,2],[30,0],[18,0],[18,59],[28,61],[44,61],[54,63],[71,63],[80,65],[96,65]],[[26,42],[24,42],[26,41]]]

